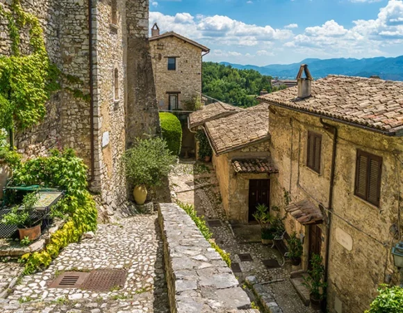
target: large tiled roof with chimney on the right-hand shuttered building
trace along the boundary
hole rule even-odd
[[[312,82],[312,97],[297,99],[298,87],[259,100],[393,133],[403,126],[403,82],[329,75]]]

